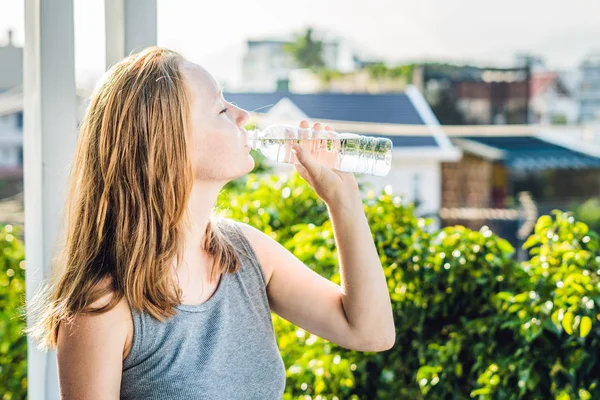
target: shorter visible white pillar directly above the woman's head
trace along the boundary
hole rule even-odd
[[[156,45],[156,0],[105,0],[106,68]]]

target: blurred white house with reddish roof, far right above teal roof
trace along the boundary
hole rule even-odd
[[[575,94],[561,74],[544,71],[533,73],[530,81],[531,123],[576,124],[579,105]]]

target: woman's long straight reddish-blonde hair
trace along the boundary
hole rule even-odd
[[[193,184],[183,60],[174,51],[148,48],[113,66],[92,96],[69,174],[52,277],[27,305],[26,333],[41,348],[56,347],[62,321],[106,312],[123,297],[160,320],[181,303],[171,267],[182,260]],[[239,269],[214,218],[204,246],[214,260],[212,279]],[[107,304],[90,307],[109,293]]]

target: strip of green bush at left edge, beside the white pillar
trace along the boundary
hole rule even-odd
[[[23,242],[12,225],[0,229],[0,396],[27,397],[27,340],[19,307],[25,296]]]

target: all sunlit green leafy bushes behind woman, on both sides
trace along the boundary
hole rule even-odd
[[[219,205],[339,283],[327,209],[297,174],[251,174],[229,185]],[[364,208],[396,344],[382,353],[349,351],[274,316],[285,399],[600,398],[600,242],[587,225],[560,212],[540,218],[525,243],[532,257],[518,263],[489,229],[429,232],[427,220],[385,192],[368,196]],[[23,246],[10,229],[0,232],[0,388],[3,398],[20,399]]]

